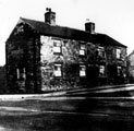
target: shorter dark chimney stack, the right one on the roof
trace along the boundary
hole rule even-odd
[[[93,22],[85,23],[85,31],[88,32],[89,34],[95,34],[95,23]]]

